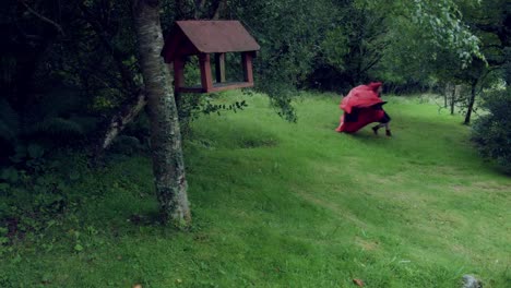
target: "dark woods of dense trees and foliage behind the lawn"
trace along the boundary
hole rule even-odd
[[[297,89],[346,94],[379,80],[388,93],[445,95],[442,108],[468,113],[468,123],[476,99],[491,99],[495,92],[487,91],[510,83],[509,1],[443,1],[419,12],[407,1],[393,2],[176,0],[161,1],[161,19],[164,32],[176,20],[241,21],[261,45],[257,91],[268,93],[287,120],[296,120]],[[2,179],[14,177],[13,169],[33,173],[48,156],[69,148],[87,157],[102,154],[110,144],[105,137],[111,123],[123,133],[110,152],[147,147],[129,2],[7,0],[0,5]],[[466,32],[479,41],[471,41]],[[194,65],[187,74],[198,75]],[[215,106],[211,97],[177,98],[186,136],[191,136],[187,123],[200,113],[245,105],[240,99]],[[499,97],[509,105],[509,93]]]

